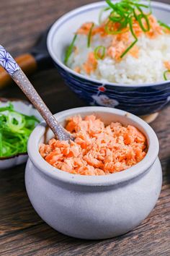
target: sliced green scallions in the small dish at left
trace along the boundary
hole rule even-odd
[[[0,158],[27,152],[27,140],[39,120],[14,110],[12,103],[0,108]]]

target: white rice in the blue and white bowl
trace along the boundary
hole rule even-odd
[[[78,35],[75,46],[79,49],[78,54],[73,52],[68,60],[68,67],[74,69],[82,67],[86,62],[89,52],[97,46],[109,46],[111,38],[94,35],[91,38],[91,47],[87,48],[86,35]],[[170,35],[159,35],[150,39],[146,35],[138,38],[136,44],[139,48],[138,58],[127,54],[121,61],[115,61],[107,56],[99,60],[97,69],[89,77],[102,80],[103,82],[115,82],[117,84],[145,84],[164,81],[164,61],[170,61]],[[81,74],[87,76],[81,68]]]

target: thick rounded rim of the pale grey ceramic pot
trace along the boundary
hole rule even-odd
[[[30,138],[28,140],[27,152],[30,160],[35,165],[37,170],[45,174],[46,176],[50,176],[52,179],[58,180],[60,182],[68,183],[68,184],[76,184],[76,185],[85,185],[85,186],[109,186],[120,184],[122,182],[128,182],[131,179],[143,174],[147,171],[153,163],[156,161],[158,157],[159,143],[156,133],[153,129],[146,124],[145,121],[140,119],[138,116],[130,114],[126,111],[122,111],[116,108],[107,108],[107,107],[98,107],[98,106],[88,106],[88,107],[80,107],[80,108],[71,108],[66,111],[61,111],[58,114],[55,114],[56,119],[60,121],[61,118],[66,119],[68,116],[73,116],[76,114],[86,114],[88,112],[91,113],[109,113],[116,114],[119,116],[125,116],[126,119],[130,119],[135,121],[142,129],[146,132],[148,137],[148,153],[146,157],[143,158],[142,161],[137,163],[135,166],[128,168],[125,171],[120,171],[115,174],[108,174],[106,176],[82,176],[80,174],[69,174],[66,171],[61,171],[58,168],[50,166],[48,162],[45,161],[44,158],[40,155],[38,151],[38,145],[40,143],[40,138],[45,133],[46,123],[42,121],[40,124],[35,127]]]

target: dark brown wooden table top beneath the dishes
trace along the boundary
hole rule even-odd
[[[93,0],[94,1],[94,0]],[[165,1],[165,0],[164,0]],[[91,0],[1,0],[1,44],[16,56],[65,12]],[[165,2],[169,2],[166,0]],[[55,69],[31,77],[53,113],[84,106]],[[1,97],[24,98],[16,85]],[[170,255],[170,106],[151,125],[160,141],[164,184],[156,207],[133,231],[115,239],[82,241],[58,233],[37,216],[24,187],[24,167],[0,171],[0,255]]]

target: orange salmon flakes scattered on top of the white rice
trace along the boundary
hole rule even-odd
[[[148,38],[156,38],[158,35],[162,35],[163,33],[169,33],[169,31],[166,31],[164,27],[161,27],[161,25],[158,24],[158,21],[156,20],[156,17],[154,17],[152,14],[148,15],[148,21],[150,24],[150,30],[146,32],[146,36]],[[102,37],[107,37],[108,34],[105,30],[105,25],[108,22],[108,20],[105,20],[101,25],[94,26],[91,30],[91,35],[97,35],[99,34]],[[88,35],[89,30],[91,29],[91,25],[93,22],[86,22],[79,30],[77,30],[77,34],[81,35]],[[109,23],[109,29],[112,28],[113,30],[118,30],[120,27],[119,22]],[[143,20],[143,27],[147,27],[146,21]],[[133,31],[137,38],[139,38],[141,35],[143,35],[143,30],[141,29],[139,23],[135,18],[133,18]],[[130,28],[126,27],[125,29],[122,29],[122,33],[109,35],[112,36],[112,46],[109,46],[107,48],[107,55],[110,56],[112,59],[115,59],[116,61],[121,60],[122,54],[125,52],[125,50],[130,46],[130,43],[133,42],[133,38],[130,32]],[[138,46],[133,46],[133,48],[130,49],[129,53],[134,58],[138,59],[138,52],[139,48]],[[91,72],[94,72],[97,69],[97,59],[95,59],[95,56],[93,53],[90,53],[88,56],[87,61],[83,64],[83,69],[86,72],[86,74],[91,74]]]

